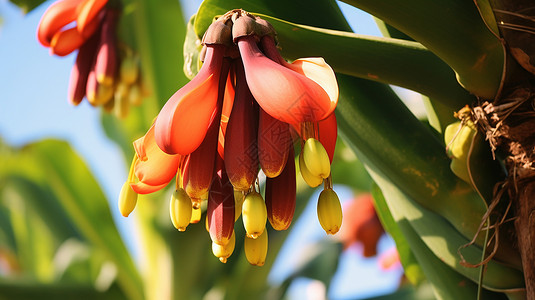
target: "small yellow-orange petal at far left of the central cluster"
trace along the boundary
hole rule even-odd
[[[134,142],[134,149],[139,158],[135,165],[136,177],[141,182],[139,186],[145,184],[161,188],[176,175],[180,155],[169,155],[158,148],[154,141],[154,126]]]

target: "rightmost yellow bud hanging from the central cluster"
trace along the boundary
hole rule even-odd
[[[321,192],[318,199],[318,220],[327,234],[335,234],[342,226],[342,206],[332,189]]]

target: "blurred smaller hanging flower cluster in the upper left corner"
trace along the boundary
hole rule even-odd
[[[108,0],[59,0],[43,14],[37,30],[39,42],[51,54],[78,50],[69,79],[69,101],[78,105],[84,97],[118,118],[140,105],[143,85],[139,59],[118,39],[122,9]],[[70,26],[75,22],[75,26]]]

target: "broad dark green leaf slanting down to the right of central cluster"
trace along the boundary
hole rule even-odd
[[[486,203],[451,172],[445,146],[437,136],[385,87],[341,74],[338,81],[340,135],[350,147],[359,149],[359,159],[471,240],[478,232]],[[482,239],[477,239],[478,245]],[[508,244],[502,246],[503,253],[497,258],[515,264],[511,258],[517,252]]]

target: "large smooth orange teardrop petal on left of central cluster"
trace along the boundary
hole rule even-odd
[[[166,153],[188,155],[202,143],[217,110],[224,50],[222,45],[208,45],[206,62],[197,76],[171,96],[158,114],[156,143]]]

